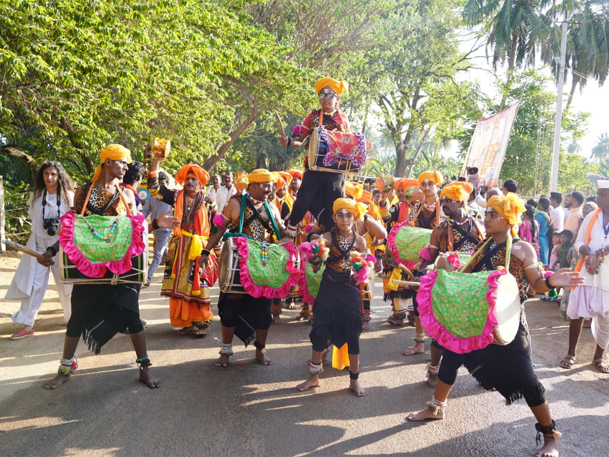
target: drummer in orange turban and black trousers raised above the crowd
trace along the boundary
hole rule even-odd
[[[348,92],[348,84],[325,77],[315,83],[315,92],[319,98],[320,109],[312,110],[301,126],[300,138],[292,140],[288,136],[281,136],[281,146],[303,146],[309,149],[309,136],[319,125],[322,116],[322,125],[327,130],[350,132],[351,124],[347,115],[339,112],[338,104],[343,92]],[[294,190],[296,178],[292,180]],[[312,171],[309,169],[308,157],[305,157],[305,174],[298,189],[298,197],[292,208],[292,214],[287,222],[286,238],[283,241],[292,241],[298,234],[298,224],[303,220],[307,211],[317,219],[323,230],[333,227],[332,205],[334,200],[343,196],[345,190],[345,175],[326,171]]]

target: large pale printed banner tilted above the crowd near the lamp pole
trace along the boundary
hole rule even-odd
[[[496,115],[478,121],[461,176],[467,177],[467,169],[474,167],[480,176],[479,186],[497,185],[519,104],[518,101]]]

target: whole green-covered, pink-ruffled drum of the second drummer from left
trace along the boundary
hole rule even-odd
[[[300,254],[294,243],[279,246],[235,236],[222,247],[219,286],[227,294],[283,299],[299,276]]]

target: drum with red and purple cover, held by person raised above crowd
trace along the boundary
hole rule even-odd
[[[363,133],[328,131],[315,127],[309,139],[309,169],[343,174],[359,174],[371,144]]]

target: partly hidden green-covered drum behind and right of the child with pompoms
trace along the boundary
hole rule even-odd
[[[401,263],[412,269],[429,244],[431,232],[429,228],[410,227],[407,221],[395,224],[387,236],[387,264],[396,268]]]

